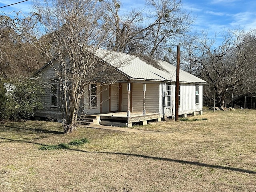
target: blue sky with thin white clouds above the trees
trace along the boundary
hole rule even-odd
[[[22,0],[0,0],[0,7]],[[30,12],[32,0],[22,2],[6,8],[0,12],[8,14],[12,10]],[[124,9],[143,8],[144,0],[121,0]],[[209,36],[222,33],[228,29],[256,29],[256,1],[255,0],[182,0],[183,8],[196,20],[193,31],[208,31]]]

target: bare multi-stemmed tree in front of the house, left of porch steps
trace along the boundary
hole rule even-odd
[[[39,42],[39,49],[48,56],[56,72],[53,80],[60,85],[64,133],[73,132],[86,86],[116,80],[108,73],[112,70],[113,75],[113,69],[101,60],[110,52],[99,50],[108,37],[105,10],[94,0],[38,0],[34,6],[47,32],[42,38],[48,40]]]

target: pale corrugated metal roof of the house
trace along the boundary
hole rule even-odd
[[[98,49],[96,55],[132,80],[176,81],[176,66],[165,61],[157,60],[158,64],[165,69],[159,70],[136,56],[120,52]],[[180,70],[180,82],[206,83],[183,70]]]

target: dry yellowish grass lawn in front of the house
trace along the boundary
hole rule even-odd
[[[188,120],[133,127],[169,134],[0,122],[0,192],[255,192],[256,110]],[[39,150],[81,138],[90,142]]]

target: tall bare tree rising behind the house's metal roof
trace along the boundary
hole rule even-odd
[[[146,0],[143,10],[120,13],[118,0],[102,0],[105,22],[110,26],[107,47],[130,54],[163,59],[170,44],[189,31],[193,19],[182,10],[181,0]]]

